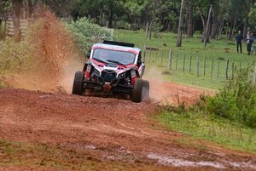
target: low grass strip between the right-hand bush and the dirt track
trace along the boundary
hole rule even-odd
[[[197,139],[208,140],[231,150],[256,153],[256,130],[238,123],[195,112],[176,113],[166,110],[161,112],[158,120],[167,128]]]

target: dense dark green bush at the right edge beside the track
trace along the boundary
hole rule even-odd
[[[256,128],[256,85],[240,71],[215,97],[207,98],[207,111],[231,121]]]

